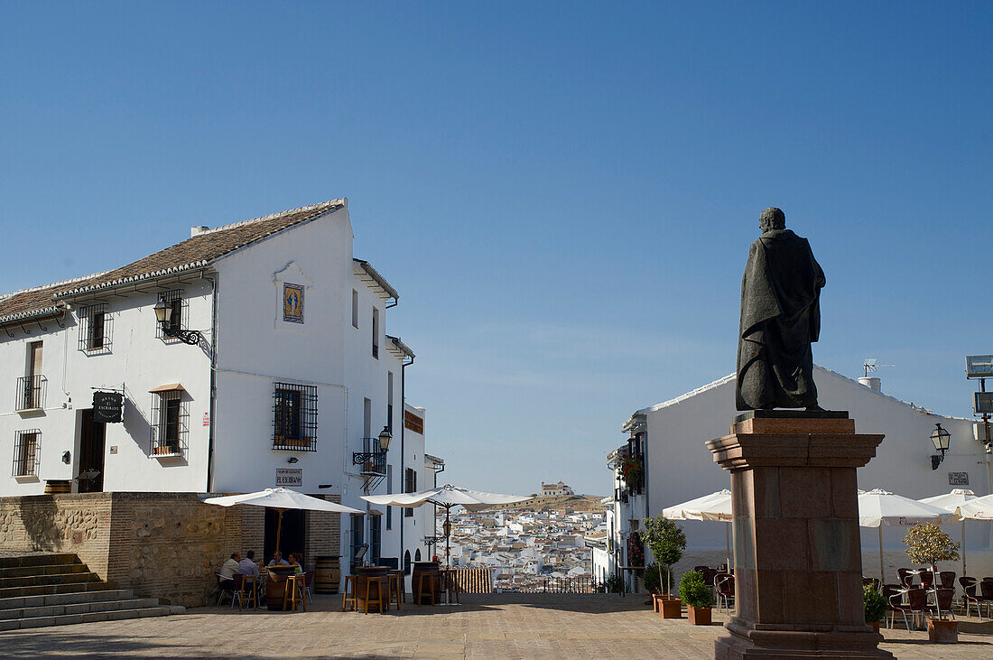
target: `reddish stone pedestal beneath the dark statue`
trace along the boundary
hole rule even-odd
[[[865,623],[855,470],[881,435],[847,413],[756,411],[707,443],[731,472],[736,616],[715,658],[891,658]]]

